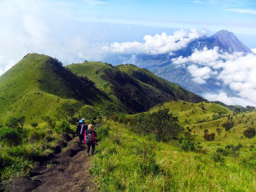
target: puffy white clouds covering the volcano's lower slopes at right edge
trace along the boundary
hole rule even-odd
[[[218,47],[213,49],[204,47],[201,51],[195,49],[191,56],[173,58],[172,62],[186,64],[186,69],[198,84],[206,83],[211,77],[218,82],[216,85],[229,86],[237,97],[224,97],[223,94],[213,95],[215,98],[223,96],[225,100],[221,100],[222,102],[243,100],[243,103],[245,101],[256,103],[256,55],[254,54],[245,55],[241,52],[230,54],[223,53],[218,50]]]

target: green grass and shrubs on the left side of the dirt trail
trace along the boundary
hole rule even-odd
[[[10,128],[9,128],[10,129]],[[75,126],[71,126],[75,130]],[[0,131],[3,131],[0,129]],[[29,176],[40,157],[49,152],[54,152],[56,141],[61,139],[62,133],[50,129],[51,133],[41,123],[37,128],[26,125],[19,132],[17,143],[10,143],[8,139],[0,142],[0,181],[18,176]]]

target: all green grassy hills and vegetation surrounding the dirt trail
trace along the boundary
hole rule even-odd
[[[134,65],[29,54],[0,77],[0,105],[1,180],[29,176],[85,118],[100,191],[256,190],[255,108],[204,101]]]

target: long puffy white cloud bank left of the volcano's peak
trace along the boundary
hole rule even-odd
[[[173,35],[162,33],[154,36],[145,35],[144,43],[137,41],[124,43],[111,43],[110,46],[104,46],[104,51],[112,53],[146,53],[146,54],[162,54],[170,51],[178,50],[185,47],[190,41],[197,39],[200,34],[196,29],[190,29],[190,33],[185,30],[174,31]]]

